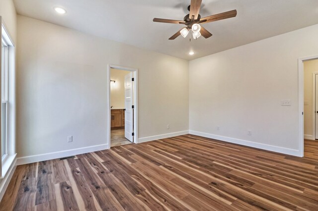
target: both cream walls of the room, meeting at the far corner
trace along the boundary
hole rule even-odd
[[[190,65],[24,16],[18,29],[18,157],[105,146],[108,64],[139,69],[144,140],[189,127],[194,134],[299,155],[297,64],[318,54],[318,25]]]

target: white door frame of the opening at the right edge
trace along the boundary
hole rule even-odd
[[[318,59],[318,55],[298,59],[298,143],[300,157],[304,157],[304,62],[314,59]]]

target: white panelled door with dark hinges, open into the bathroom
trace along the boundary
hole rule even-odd
[[[132,86],[133,73],[125,75],[125,138],[134,142],[133,137],[133,86]]]

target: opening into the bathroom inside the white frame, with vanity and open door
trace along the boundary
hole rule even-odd
[[[110,70],[110,147],[134,143],[134,72]]]

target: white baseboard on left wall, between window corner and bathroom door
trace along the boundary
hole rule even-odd
[[[54,153],[26,156],[26,157],[17,158],[16,164],[23,165],[26,163],[39,162],[43,160],[56,159],[56,158],[64,158],[69,156],[76,156],[79,154],[91,153],[91,152],[107,150],[107,149],[108,149],[108,144],[102,144],[102,145],[83,147],[83,148],[72,149],[72,150],[59,151]]]

